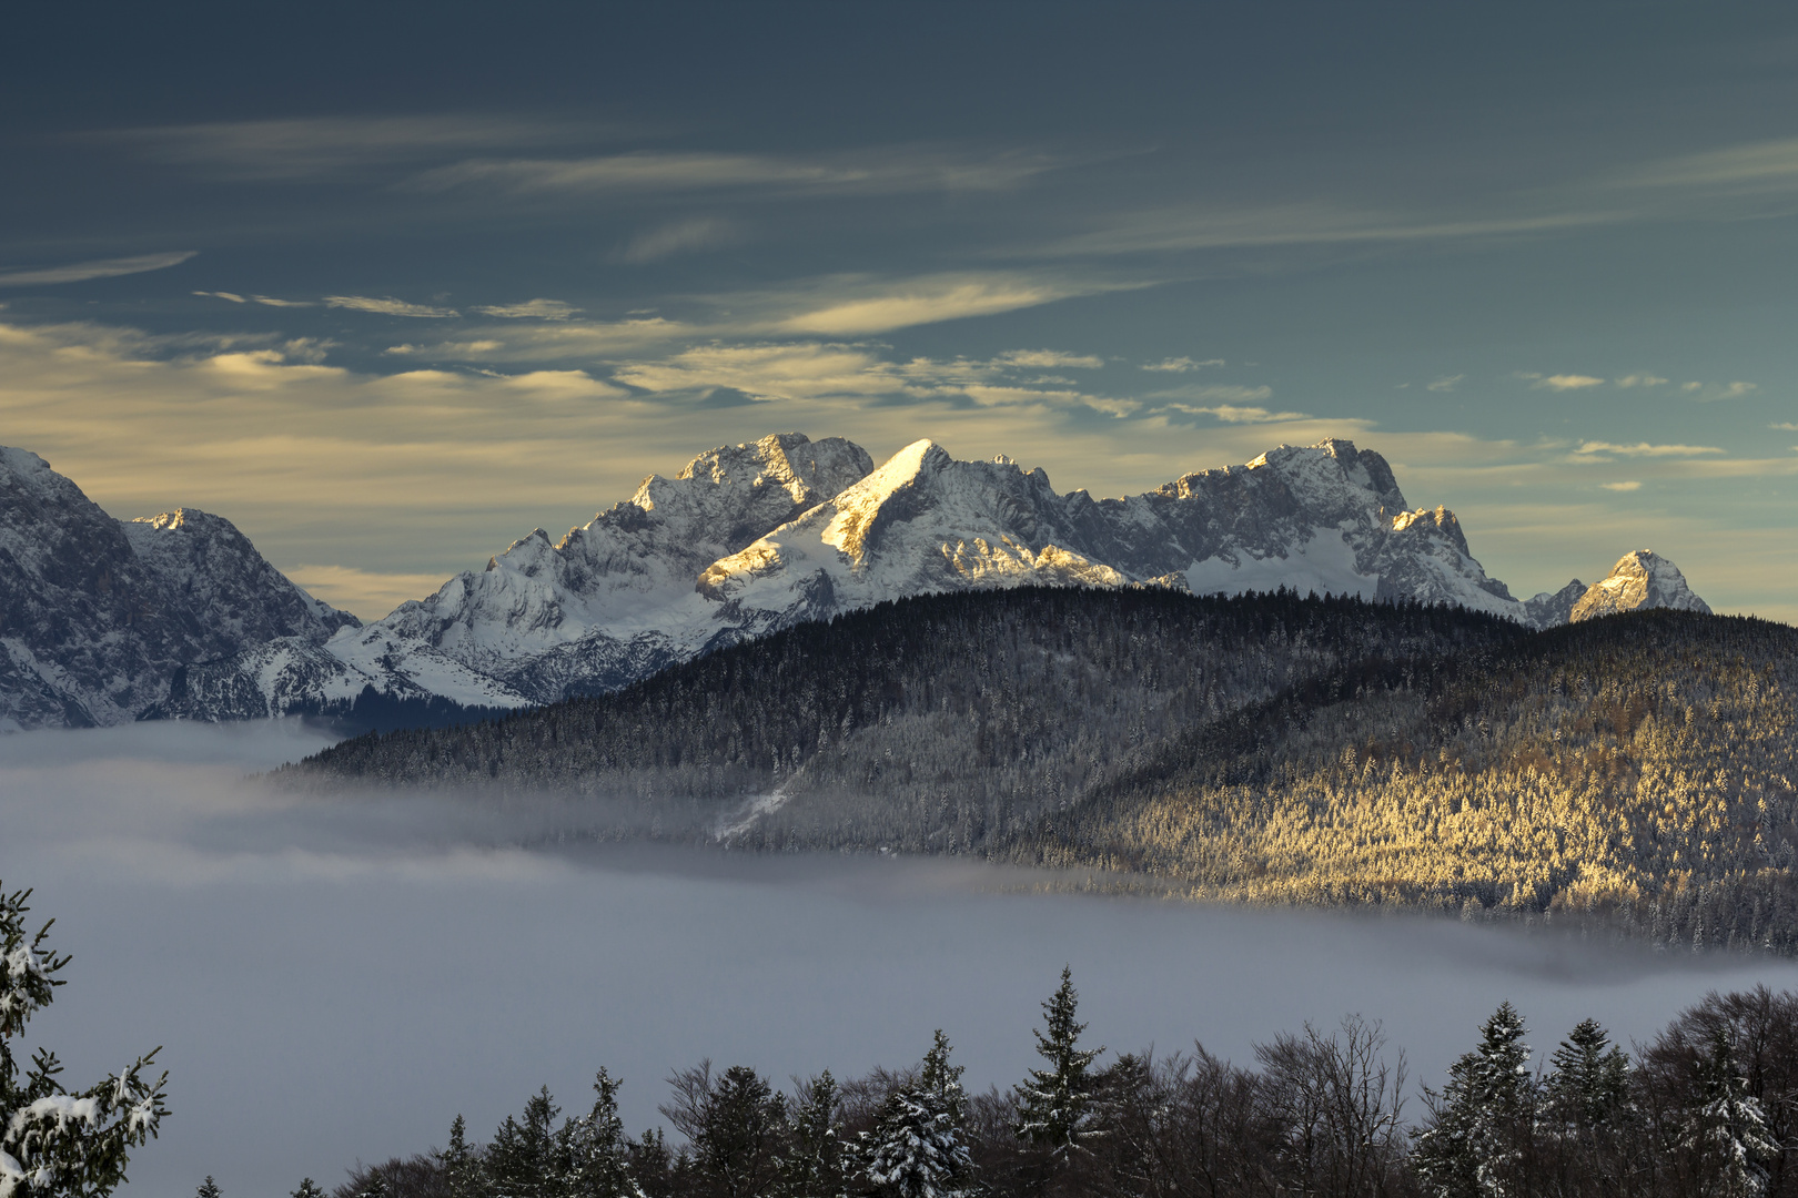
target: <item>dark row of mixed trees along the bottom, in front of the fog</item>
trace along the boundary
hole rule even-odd
[[[1379,1024],[1307,1026],[1253,1065],[1203,1045],[1100,1060],[1075,1011],[1064,972],[1043,1063],[1005,1090],[966,1094],[939,1031],[921,1063],[850,1081],[701,1063],[669,1078],[674,1137],[631,1137],[601,1070],[584,1110],[545,1088],[491,1141],[458,1115],[446,1148],[358,1167],[334,1198],[1798,1194],[1789,991],[1712,993],[1627,1053],[1586,1020],[1541,1060],[1505,1004],[1415,1114]]]

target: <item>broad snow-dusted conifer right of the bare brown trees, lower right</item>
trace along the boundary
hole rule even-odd
[[[1485,1020],[1480,1047],[1449,1067],[1440,1094],[1426,1090],[1435,1119],[1417,1137],[1411,1164],[1437,1198],[1516,1198],[1537,1094],[1523,1017],[1509,1002]]]

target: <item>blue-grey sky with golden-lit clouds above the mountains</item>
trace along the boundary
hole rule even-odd
[[[365,618],[773,431],[1798,621],[1791,5],[31,5],[0,444]]]

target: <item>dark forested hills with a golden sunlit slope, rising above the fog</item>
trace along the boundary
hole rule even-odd
[[[1798,950],[1798,630],[1548,632],[1286,591],[944,595],[284,785],[590,799],[610,835],[975,855],[1194,898]]]

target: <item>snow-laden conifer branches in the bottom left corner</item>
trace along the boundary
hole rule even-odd
[[[156,1135],[164,1081],[147,1072],[156,1053],[86,1090],[63,1088],[56,1054],[38,1049],[27,1069],[13,1056],[25,1022],[50,1004],[68,965],[47,947],[50,923],[27,932],[31,891],[0,889],[0,1198],[108,1194],[126,1180],[129,1151]],[[158,1049],[160,1051],[160,1049]],[[209,1182],[212,1178],[207,1178]]]

